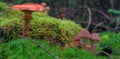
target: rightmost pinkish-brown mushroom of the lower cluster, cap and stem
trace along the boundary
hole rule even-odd
[[[96,54],[97,52],[97,47],[98,47],[98,43],[99,41],[101,40],[100,39],[100,36],[98,35],[98,33],[92,33],[91,34],[91,38],[92,38],[92,42],[91,42],[91,45],[92,45],[92,49],[91,51]]]

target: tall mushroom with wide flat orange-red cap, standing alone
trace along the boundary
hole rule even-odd
[[[21,10],[25,13],[25,15],[23,16],[24,27],[22,30],[22,36],[28,37],[30,20],[32,19],[32,16],[31,16],[32,12],[33,11],[43,11],[44,8],[39,4],[25,3],[25,4],[20,4],[20,5],[13,5],[12,9]]]

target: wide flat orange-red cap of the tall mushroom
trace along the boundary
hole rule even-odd
[[[34,4],[34,3],[13,5],[12,9],[14,9],[14,10],[29,10],[29,11],[43,11],[44,10],[44,8],[41,5]]]

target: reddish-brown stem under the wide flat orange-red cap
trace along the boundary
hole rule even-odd
[[[24,10],[23,11],[25,15],[23,16],[24,20],[24,26],[22,30],[22,36],[23,37],[29,37],[29,26],[30,26],[30,20],[32,19],[32,11]]]

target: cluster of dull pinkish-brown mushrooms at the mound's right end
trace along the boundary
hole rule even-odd
[[[98,33],[90,34],[88,30],[84,29],[77,36],[75,36],[74,41],[71,43],[71,46],[85,48],[90,52],[96,54],[100,40],[101,39]]]

